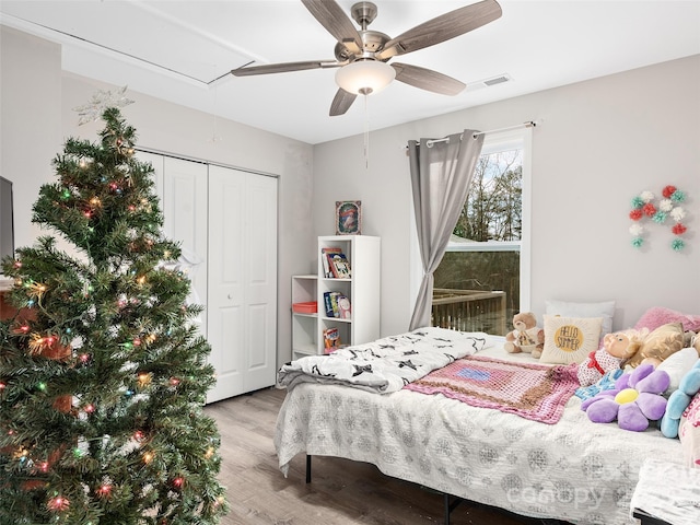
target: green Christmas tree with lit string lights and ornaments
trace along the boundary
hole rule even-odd
[[[198,305],[161,233],[153,170],[116,107],[101,140],[69,139],[33,222],[2,266],[1,524],[215,524],[226,512],[214,382]]]

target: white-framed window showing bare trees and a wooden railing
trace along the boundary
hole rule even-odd
[[[504,336],[529,310],[530,130],[490,133],[434,273],[433,326]]]

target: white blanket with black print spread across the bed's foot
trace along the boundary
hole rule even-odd
[[[387,394],[456,359],[486,348],[488,336],[428,327],[366,345],[337,350],[330,355],[307,355],[278,371],[280,385],[329,383]]]

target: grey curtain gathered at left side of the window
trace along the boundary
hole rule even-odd
[[[447,140],[439,139],[440,142],[431,145],[431,139],[408,142],[413,210],[424,272],[409,330],[430,326],[433,272],[459,219],[483,145],[483,135],[475,138],[474,133],[474,130],[465,129],[463,133],[451,135]]]

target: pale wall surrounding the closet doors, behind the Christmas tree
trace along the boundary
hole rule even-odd
[[[78,126],[73,108],[98,90],[116,89],[61,71],[60,46],[0,26],[2,44],[1,174],[14,182],[16,246],[34,242],[31,208],[42,184],[54,178],[51,160],[68,137],[97,141],[103,122]],[[121,109],[137,130],[137,147],[279,176],[278,358],[291,355],[291,276],[308,271],[316,241],[312,232],[310,144],[213,117],[141,93]],[[209,96],[202,90],[202,96]],[[242,101],[244,104],[245,101]],[[224,224],[221,225],[225,228]],[[46,232],[44,232],[46,233]]]

